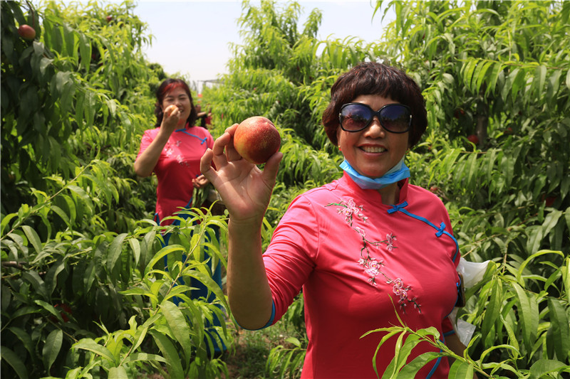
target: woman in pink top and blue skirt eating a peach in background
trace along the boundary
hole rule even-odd
[[[190,88],[184,80],[164,80],[156,91],[157,102],[155,115],[157,118],[155,128],[148,129],[142,135],[140,150],[135,161],[135,173],[138,176],[157,176],[157,201],[155,221],[160,225],[178,224],[180,220],[165,218],[192,207],[199,207],[192,199],[194,188],[207,185],[207,178],[200,172],[200,158],[204,152],[212,148],[214,138],[204,127],[195,125],[198,114],[192,101]],[[180,213],[186,218],[188,213]],[[219,230],[214,228],[218,237]],[[168,245],[170,234],[163,235],[165,245]],[[170,259],[170,261],[169,261]],[[182,256],[185,260],[185,256]],[[174,262],[170,256],[165,257],[165,267],[172,267]],[[209,268],[212,279],[222,287],[222,266],[218,262]],[[182,278],[178,279],[185,284]],[[188,284],[192,289],[188,294],[190,299],[203,297],[213,301],[214,295],[209,293],[207,287],[197,279]],[[180,302],[179,297],[172,298],[175,304]],[[219,326],[220,321],[214,316],[214,325]],[[225,351],[226,347],[218,347],[214,341],[214,353]]]

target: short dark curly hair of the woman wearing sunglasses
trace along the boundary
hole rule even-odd
[[[408,144],[420,141],[427,127],[427,112],[422,91],[403,71],[382,63],[364,62],[339,76],[331,87],[331,102],[323,112],[323,125],[328,139],[338,145],[336,131],[340,127],[341,107],[360,95],[380,95],[408,105],[412,110],[412,128]]]

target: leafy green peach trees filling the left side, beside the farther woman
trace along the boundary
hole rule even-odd
[[[133,161],[165,78],[145,60],[147,26],[135,6],[1,2],[1,375],[217,377],[214,338],[230,344],[224,295],[204,246],[224,261],[209,225],[192,213],[170,230],[152,222],[155,186]],[[18,32],[27,25],[33,39]],[[193,225],[202,221],[199,226]],[[172,228],[171,228],[172,229]],[[186,265],[165,270],[167,253]],[[218,304],[170,301],[194,277]]]

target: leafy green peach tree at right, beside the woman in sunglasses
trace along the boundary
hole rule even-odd
[[[445,200],[467,260],[496,265],[460,311],[477,326],[470,368],[568,372],[570,4],[390,7],[380,45],[421,84],[430,116],[414,180]]]

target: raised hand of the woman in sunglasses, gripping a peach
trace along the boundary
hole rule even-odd
[[[242,159],[234,148],[237,126],[234,124],[226,129],[214,142],[213,149],[204,153],[200,171],[222,196],[232,222],[261,223],[283,154],[278,151],[271,156],[261,171],[256,165]]]

